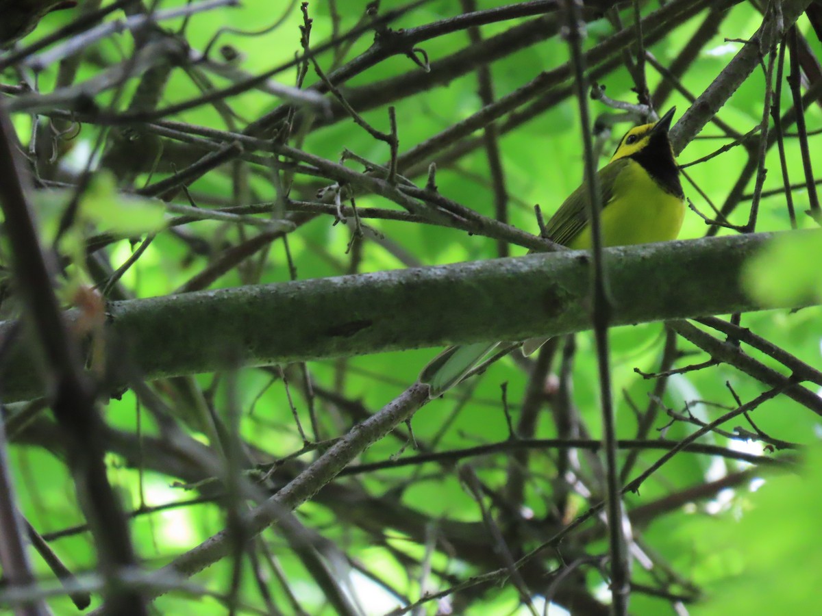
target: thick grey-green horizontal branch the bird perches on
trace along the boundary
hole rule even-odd
[[[612,324],[760,309],[740,270],[774,235],[608,249]],[[219,370],[238,356],[271,365],[577,332],[590,324],[588,267],[586,253],[562,251],[119,301],[109,361],[125,382]],[[11,328],[0,324],[0,339]],[[27,352],[16,353],[0,373],[5,402],[40,391]]]

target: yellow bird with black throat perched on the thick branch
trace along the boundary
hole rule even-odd
[[[658,122],[635,126],[617,145],[611,160],[597,172],[605,246],[648,244],[674,240],[685,214],[685,194],[679,182],[668,129],[676,108]],[[546,225],[547,236],[575,250],[591,246],[588,188],[572,192]],[[534,342],[536,341],[536,342]],[[535,351],[544,339],[526,340],[523,352]],[[419,376],[431,387],[431,397],[458,384],[500,342],[449,347]]]

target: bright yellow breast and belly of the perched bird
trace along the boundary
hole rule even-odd
[[[630,160],[614,181],[611,200],[603,204],[600,223],[605,246],[649,244],[677,239],[685,215],[685,202],[664,191],[642,168]],[[585,225],[570,241],[575,250],[591,246],[591,228]]]

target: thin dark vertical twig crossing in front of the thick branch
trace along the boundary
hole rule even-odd
[[[566,0],[568,47],[574,67],[576,94],[580,103],[580,122],[584,147],[585,177],[589,196],[589,224],[591,226],[591,251],[593,253],[593,336],[597,347],[599,389],[602,398],[603,444],[606,469],[606,514],[608,545],[611,553],[611,595],[613,612],[617,616],[628,613],[630,580],[626,558],[625,537],[622,534],[622,501],[619,476],[617,475],[617,434],[614,421],[611,374],[608,365],[608,321],[611,306],[606,292],[603,264],[603,232],[600,225],[600,192],[596,161],[593,156],[591,121],[588,108],[588,80],[585,76],[582,53],[582,22],[580,5],[576,0]]]

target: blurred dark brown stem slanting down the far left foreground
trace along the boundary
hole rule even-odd
[[[16,159],[16,134],[0,107],[0,206],[12,247],[18,289],[43,350],[53,391],[52,411],[66,437],[69,466],[78,499],[95,536],[99,567],[113,582],[106,589],[116,614],[145,614],[139,592],[117,583],[136,558],[117,495],[104,463],[103,421],[95,408],[95,393],[83,374],[80,349],[62,319],[52,288],[46,255],[40,246],[25,195],[22,166]]]

